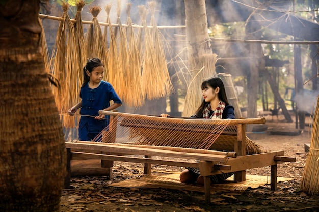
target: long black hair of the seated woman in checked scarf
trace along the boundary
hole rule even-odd
[[[212,77],[212,78],[206,79],[205,81],[202,82],[202,90],[207,89],[208,86],[212,87],[213,89],[216,89],[217,87],[219,87],[218,98],[221,101],[225,102],[226,106],[229,105],[229,102],[227,100],[225,87],[224,87],[224,83],[220,78]],[[201,103],[199,108],[196,110],[195,116],[201,117],[203,115],[203,110],[205,109],[205,107],[208,104],[209,104],[209,102],[205,102],[205,100],[203,100],[203,102]]]

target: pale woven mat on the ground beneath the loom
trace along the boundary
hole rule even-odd
[[[287,177],[277,177],[278,183],[281,181],[293,180]],[[224,190],[246,190],[248,188],[258,188],[270,184],[270,177],[250,175],[246,174],[246,181],[234,183],[233,176],[229,177],[222,184],[214,184],[211,188],[211,193]],[[197,186],[194,184],[181,183],[179,180],[179,174],[169,174],[163,176],[156,175],[143,175],[139,178],[130,178],[119,183],[110,184],[114,187],[124,187],[124,188],[167,188],[167,189],[180,189],[188,191],[204,192],[202,186]]]

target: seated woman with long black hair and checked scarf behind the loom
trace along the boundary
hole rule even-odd
[[[229,104],[225,92],[223,81],[218,78],[209,78],[202,82],[203,102],[191,117],[210,118],[210,119],[234,119],[234,107]],[[168,117],[168,114],[161,114],[162,117]],[[211,175],[211,183],[219,183],[230,177],[232,173],[222,173]],[[199,169],[186,167],[179,176],[182,183],[204,184],[203,177],[200,176]]]

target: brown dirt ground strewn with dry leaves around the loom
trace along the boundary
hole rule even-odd
[[[64,189],[61,211],[319,211],[319,196],[300,190],[307,159],[305,144],[311,143],[311,129],[298,135],[275,135],[270,132],[296,131],[295,123],[286,123],[264,114],[267,131],[248,133],[249,137],[267,150],[284,150],[285,155],[296,157],[294,163],[278,165],[278,176],[293,180],[278,183],[278,190],[270,185],[245,191],[225,190],[211,195],[211,204],[205,205],[204,193],[173,189],[118,188],[110,186],[118,181],[139,177],[142,164],[114,162],[113,179],[107,176],[83,176],[71,179],[71,189]],[[292,116],[293,119],[294,115]],[[306,123],[311,120],[306,119]],[[152,174],[181,171],[182,167],[153,166]],[[270,175],[270,167],[247,170],[247,174]]]

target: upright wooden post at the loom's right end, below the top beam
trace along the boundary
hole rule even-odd
[[[238,124],[237,126],[237,141],[235,142],[234,150],[237,156],[246,155],[246,125]],[[241,182],[246,180],[246,170],[234,172],[234,181]]]

